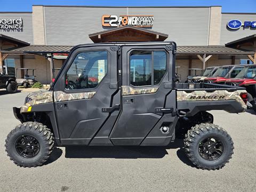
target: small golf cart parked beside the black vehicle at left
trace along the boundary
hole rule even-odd
[[[17,78],[16,82],[18,84],[18,86],[23,86],[25,89],[27,89],[29,86],[34,85],[37,81],[35,80],[35,76],[34,76],[34,71],[35,69],[31,69],[31,68],[16,68],[16,77],[18,74],[18,70],[26,70],[26,74],[24,76],[24,78]],[[32,71],[32,75],[28,74],[28,71],[31,70]]]

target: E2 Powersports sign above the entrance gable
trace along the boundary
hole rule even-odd
[[[137,26],[152,27],[154,15],[102,15],[102,26],[118,27],[118,26]]]

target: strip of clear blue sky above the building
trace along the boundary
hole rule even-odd
[[[222,6],[222,12],[256,13],[256,0],[0,0],[0,12],[32,11],[32,5]]]

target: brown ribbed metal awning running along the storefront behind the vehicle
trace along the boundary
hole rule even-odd
[[[57,45],[30,45],[25,47],[15,47],[2,50],[7,54],[47,54],[47,53],[69,53],[73,46],[57,46]],[[222,54],[222,55],[249,55],[253,51],[243,49],[235,49],[225,46],[178,46],[178,55],[198,55],[198,54]]]

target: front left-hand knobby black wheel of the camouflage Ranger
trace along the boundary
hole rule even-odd
[[[15,164],[23,167],[42,165],[52,153],[53,145],[50,129],[37,122],[16,126],[5,140],[7,155]]]

